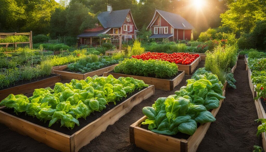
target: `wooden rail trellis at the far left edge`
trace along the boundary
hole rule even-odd
[[[24,32],[24,33],[0,33],[0,39],[4,39],[6,36],[10,35],[28,35],[29,36],[29,42],[14,42],[14,43],[0,43],[0,45],[6,45],[8,47],[9,44],[15,44],[15,49],[17,48],[17,44],[30,44],[30,49],[32,49],[32,31],[30,32]]]

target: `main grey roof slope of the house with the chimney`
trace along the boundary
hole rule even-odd
[[[98,20],[104,28],[121,27],[130,9],[102,12],[98,15]]]

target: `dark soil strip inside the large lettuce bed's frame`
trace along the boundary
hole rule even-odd
[[[144,87],[143,89],[145,89],[147,87]],[[90,114],[90,116],[88,116],[86,119],[83,119],[83,118],[79,118],[78,121],[79,121],[79,126],[75,125],[75,127],[70,130],[66,127],[60,127],[61,124],[60,123],[55,123],[53,124],[51,127],[49,127],[50,129],[53,129],[53,130],[56,130],[58,132],[61,132],[61,133],[64,133],[64,134],[67,134],[67,135],[72,135],[74,134],[75,132],[77,132],[78,130],[82,129],[83,127],[85,127],[86,125],[88,125],[89,123],[93,122],[94,120],[98,119],[99,117],[101,117],[103,114],[105,114],[106,112],[108,112],[109,110],[111,110],[112,108],[116,107],[117,105],[119,105],[120,103],[122,103],[123,101],[127,100],[128,98],[130,98],[131,96],[135,95],[136,93],[142,91],[143,89],[141,90],[135,90],[134,92],[132,92],[132,94],[130,95],[127,95],[126,98],[122,98],[120,101],[118,101],[116,103],[116,105],[114,105],[113,103],[109,103],[109,105],[106,105],[106,109],[102,110],[101,112],[93,112]],[[28,115],[25,115],[25,112],[22,112],[20,113],[19,115],[16,115],[16,113],[14,113],[14,109],[3,109],[2,110],[3,112],[6,112],[6,113],[9,113],[9,114],[12,114],[16,117],[19,117],[19,118],[22,118],[24,120],[27,120],[27,121],[30,121],[34,124],[37,124],[37,125],[40,125],[40,126],[43,126],[43,127],[46,127],[48,128],[48,125],[49,125],[49,121],[47,122],[42,122],[40,121],[39,119],[37,119],[36,117],[33,118],[31,116],[28,116]]]

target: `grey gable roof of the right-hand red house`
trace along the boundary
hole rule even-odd
[[[187,20],[182,18],[180,15],[174,14],[174,13],[170,13],[170,12],[167,12],[167,11],[156,10],[155,14],[153,16],[153,19],[155,18],[156,12],[158,12],[161,15],[161,17],[163,17],[173,28],[183,29],[183,30],[192,30],[192,29],[194,29],[194,27]],[[153,21],[153,19],[152,19],[152,21]],[[149,24],[149,26],[151,26],[152,21]]]

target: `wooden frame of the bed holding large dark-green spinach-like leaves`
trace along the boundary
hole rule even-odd
[[[211,110],[214,117],[221,108],[222,102],[223,100],[220,100],[219,107]],[[208,122],[200,125],[188,139],[179,139],[141,128],[141,123],[146,119],[147,117],[144,116],[132,124],[129,127],[129,135],[130,143],[150,152],[196,152],[211,124]]]

